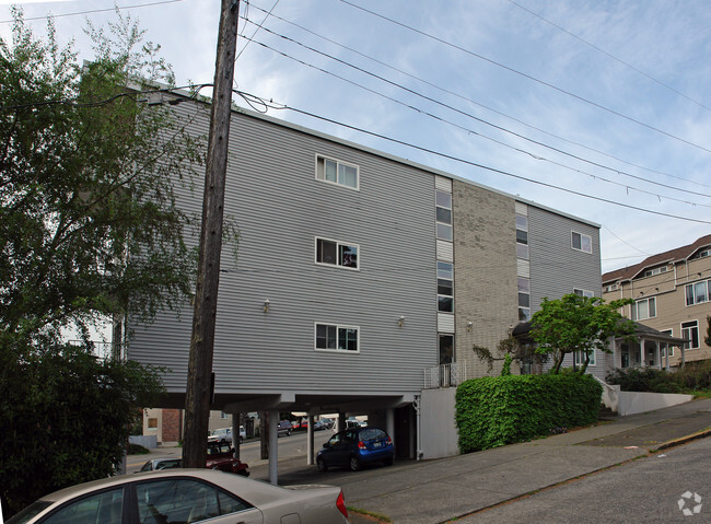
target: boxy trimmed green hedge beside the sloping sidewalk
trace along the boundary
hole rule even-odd
[[[558,428],[597,420],[603,386],[591,375],[509,375],[474,379],[456,393],[462,453],[488,450]]]

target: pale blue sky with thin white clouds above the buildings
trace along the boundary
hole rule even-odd
[[[116,20],[110,0],[0,0],[3,38],[9,3],[26,19],[54,13],[81,59],[86,18]],[[132,5],[178,85],[212,82],[218,0],[117,4]],[[603,271],[711,233],[708,0],[243,0],[241,11],[240,90],[397,142],[271,116],[601,224]],[[28,23],[45,35],[45,20]]]

